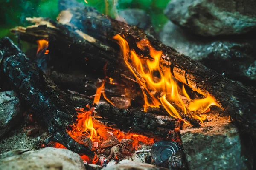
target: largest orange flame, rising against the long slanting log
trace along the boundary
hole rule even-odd
[[[184,87],[182,89],[179,87],[170,69],[163,65],[162,51],[156,51],[148,40],[140,40],[137,42],[137,47],[142,51],[148,48],[150,55],[149,59],[140,58],[134,49],[129,48],[124,37],[117,34],[113,38],[118,40],[125,63],[140,84],[145,100],[144,111],[147,111],[148,107],[163,105],[171,116],[182,119],[172,103],[180,107],[185,114],[187,114],[187,109],[200,110],[202,113],[211,105],[215,105],[214,99],[208,95],[204,99],[191,100],[189,106],[186,107],[180,96],[182,94],[187,99],[190,97]],[[194,117],[202,122],[199,116]]]

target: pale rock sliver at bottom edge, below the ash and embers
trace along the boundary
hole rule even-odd
[[[168,170],[168,169],[163,167],[156,167],[151,164],[131,161],[129,163],[122,163],[122,164],[113,165],[111,167],[105,167],[102,170]]]

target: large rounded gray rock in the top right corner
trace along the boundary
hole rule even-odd
[[[195,34],[243,34],[256,28],[255,0],[172,0],[164,13]]]

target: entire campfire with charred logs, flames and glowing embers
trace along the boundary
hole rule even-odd
[[[37,48],[25,54],[8,37],[0,40],[0,73],[26,106],[24,131],[45,129],[38,149],[71,150],[90,168],[129,160],[188,169],[188,131],[234,122],[255,136],[253,88],[137,26],[60,2],[56,21],[26,18],[30,26],[11,30]]]

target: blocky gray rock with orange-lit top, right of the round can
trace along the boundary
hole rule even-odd
[[[239,132],[228,117],[180,130],[180,135],[190,170],[247,169]]]

